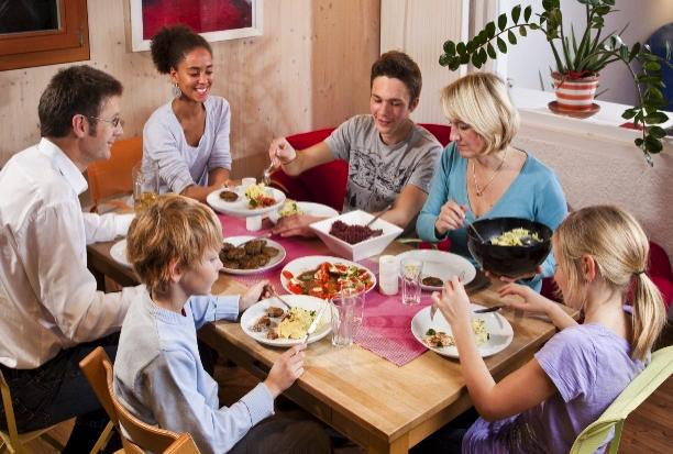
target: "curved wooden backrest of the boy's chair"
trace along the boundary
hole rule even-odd
[[[108,380],[109,395],[112,398],[112,405],[114,411],[119,418],[119,423],[126,431],[133,444],[136,444],[144,451],[152,451],[155,453],[162,453],[167,450],[173,442],[175,442],[179,435],[175,432],[159,429],[155,425],[147,424],[140,419],[135,418],[114,396],[114,389],[112,384],[112,364],[110,361],[103,361],[106,377]],[[122,434],[122,440],[125,436]]]

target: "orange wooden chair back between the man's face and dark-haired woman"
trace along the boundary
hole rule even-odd
[[[131,170],[143,157],[143,137],[117,141],[107,160],[87,167],[91,202],[96,206],[109,197],[133,191]]]

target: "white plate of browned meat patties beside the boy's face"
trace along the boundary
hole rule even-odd
[[[231,236],[224,239],[220,251],[224,273],[252,275],[280,265],[285,247],[273,240],[257,236]]]

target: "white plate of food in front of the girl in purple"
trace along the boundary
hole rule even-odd
[[[438,310],[430,320],[430,307],[423,308],[411,320],[411,332],[418,342],[443,356],[457,358],[451,326]],[[486,309],[472,303],[472,310]],[[514,340],[514,330],[507,319],[497,312],[479,313],[472,317],[472,332],[482,357],[495,355],[507,348]]]

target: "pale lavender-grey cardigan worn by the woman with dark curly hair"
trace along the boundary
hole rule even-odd
[[[143,167],[153,160],[159,167],[159,192],[181,192],[189,185],[208,186],[208,173],[221,167],[231,170],[229,124],[231,111],[224,98],[210,96],[206,128],[197,146],[185,139],[185,131],[170,102],[156,109],[143,129]]]

